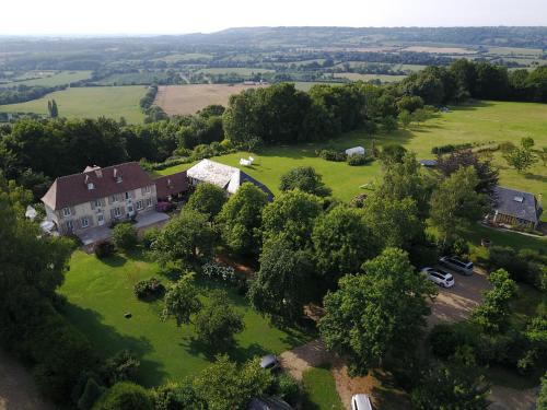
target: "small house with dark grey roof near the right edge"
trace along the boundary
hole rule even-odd
[[[543,208],[533,194],[496,187],[494,195],[497,203],[493,222],[511,226],[537,227]]]

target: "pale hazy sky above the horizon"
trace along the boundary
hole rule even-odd
[[[178,34],[259,25],[547,24],[547,0],[0,0],[0,34]]]

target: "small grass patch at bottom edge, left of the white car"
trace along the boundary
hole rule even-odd
[[[313,367],[304,372],[302,384],[306,394],[304,409],[310,410],[344,410],[336,391],[336,383],[330,370]]]

